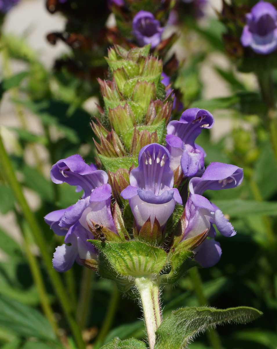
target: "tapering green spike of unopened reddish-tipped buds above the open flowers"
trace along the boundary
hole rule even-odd
[[[129,169],[137,164],[142,147],[163,144],[173,96],[160,82],[163,64],[149,55],[150,45],[129,51],[116,45],[109,50],[110,80],[98,79],[104,109],[92,122],[97,153],[105,170]]]

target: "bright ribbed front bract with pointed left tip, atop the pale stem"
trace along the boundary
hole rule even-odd
[[[159,274],[166,265],[166,252],[142,241],[105,244],[98,240],[88,241],[105,255],[117,274],[125,277]]]

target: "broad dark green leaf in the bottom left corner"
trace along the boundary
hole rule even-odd
[[[55,341],[55,334],[47,321],[37,310],[0,295],[0,327],[17,335]]]

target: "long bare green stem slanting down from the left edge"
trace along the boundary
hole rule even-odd
[[[22,210],[22,214],[25,217],[27,224],[29,225],[29,228],[30,228],[30,231],[32,232],[34,240],[40,249],[41,257],[45,263],[47,272],[50,276],[55,292],[61,302],[63,311],[68,319],[72,333],[77,342],[78,349],[85,349],[85,344],[82,339],[81,331],[77,325],[76,320],[74,319],[74,315],[71,310],[70,302],[66,295],[66,291],[64,289],[63,283],[58,273],[55,271],[55,269],[53,269],[52,259],[46,248],[47,243],[43,237],[43,233],[38,225],[38,222],[25,199],[21,185],[19,184],[15,176],[13,165],[11,164],[8,154],[6,152],[6,149],[3,145],[1,135],[0,135],[0,162],[3,168],[3,172],[5,173],[5,179],[7,183],[9,183],[11,190],[13,191],[14,196]]]

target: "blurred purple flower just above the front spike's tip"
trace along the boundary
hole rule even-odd
[[[156,47],[163,30],[151,12],[141,10],[133,18],[133,34],[140,46],[151,44],[151,49]]]

